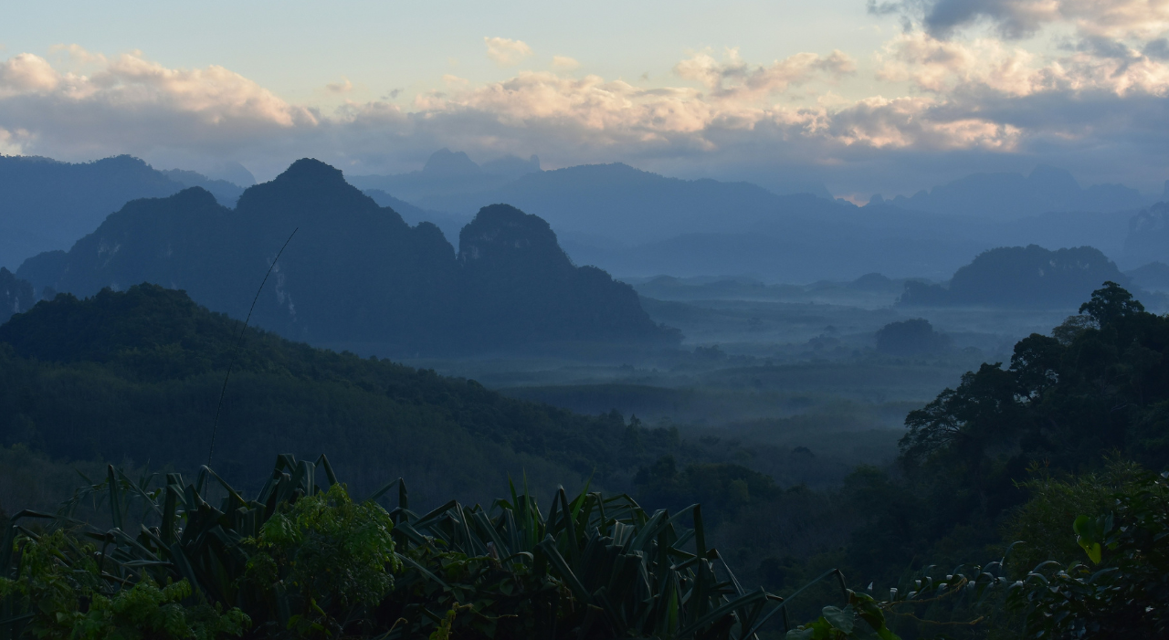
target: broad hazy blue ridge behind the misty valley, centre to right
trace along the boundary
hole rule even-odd
[[[1061,183],[1060,175],[1074,182],[1067,174],[1049,173],[1037,171],[1032,183],[1047,185],[1050,192]],[[974,194],[987,188],[970,186]],[[966,204],[968,195],[950,200]],[[1021,210],[1039,213],[943,215],[953,211],[876,201],[857,208],[809,194],[777,195],[747,182],[665,178],[621,164],[530,173],[486,193],[437,193],[410,201],[430,211],[431,221],[438,221],[434,211],[469,215],[492,202],[548,221],[574,258],[622,277],[749,274],[787,283],[853,279],[873,271],[943,279],[989,248],[1016,244],[1091,243],[1120,256],[1129,217],[1043,213],[1025,202]]]

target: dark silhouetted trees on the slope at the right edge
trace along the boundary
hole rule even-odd
[[[1004,520],[1038,488],[1025,484],[1036,465],[1090,472],[1109,452],[1169,465],[1169,318],[1144,312],[1112,281],[1081,311],[1057,338],[1021,340],[1010,367],[984,363],[908,413],[904,479],[864,480],[873,498],[850,544],[855,570],[893,583],[926,558],[976,562],[1001,544]],[[1070,515],[1051,530],[1066,533],[1081,514]],[[1021,536],[1029,537],[1054,543],[1044,531]]]

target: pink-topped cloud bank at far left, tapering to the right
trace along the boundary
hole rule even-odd
[[[95,67],[88,75],[61,71],[32,54],[0,63],[0,127],[28,132],[20,140],[23,151],[214,153],[317,121],[311,110],[222,67],[168,69],[140,54],[87,61]]]

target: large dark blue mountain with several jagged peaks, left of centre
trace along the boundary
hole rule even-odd
[[[254,316],[286,338],[381,355],[677,340],[631,287],[575,267],[535,216],[484,208],[456,257],[434,224],[408,225],[316,160],[249,188],[234,211],[202,189],[130,202],[18,276],[77,295],[150,281],[244,318],[296,229]]]

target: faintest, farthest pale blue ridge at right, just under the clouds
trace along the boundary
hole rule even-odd
[[[1049,211],[1111,213],[1140,209],[1148,199],[1123,185],[1094,185],[1082,188],[1071,173],[1054,167],[1036,167],[1030,175],[978,173],[913,196],[886,201],[873,196],[874,204],[891,203],[902,209],[934,214],[1017,218]]]

